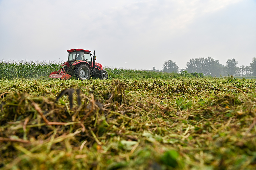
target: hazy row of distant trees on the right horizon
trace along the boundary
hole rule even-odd
[[[215,60],[211,57],[208,58],[193,58],[190,59],[186,64],[186,69],[180,69],[176,62],[172,60],[164,61],[162,70],[156,70],[153,67],[152,71],[166,72],[166,73],[181,73],[187,71],[188,73],[203,73],[204,75],[211,76],[256,76],[256,58],[252,58],[250,65],[237,66],[238,62],[232,58],[226,61],[226,65],[219,63],[219,60]]]

